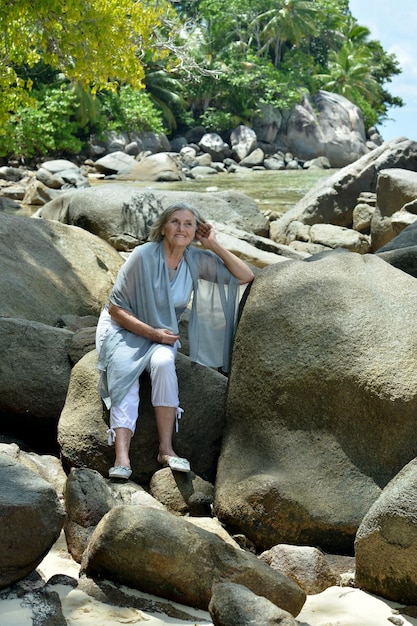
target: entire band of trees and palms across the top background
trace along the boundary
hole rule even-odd
[[[250,125],[326,89],[367,127],[402,106],[398,60],[348,0],[6,0],[0,156],[77,154],[92,133]]]

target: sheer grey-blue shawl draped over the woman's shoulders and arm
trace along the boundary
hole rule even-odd
[[[184,260],[193,281],[188,327],[190,359],[227,372],[237,321],[239,282],[209,250],[189,246]],[[110,302],[154,328],[167,328],[178,334],[161,242],[135,248],[117,276]],[[101,371],[99,391],[108,408],[123,399],[158,345],[122,327],[108,331],[97,363]]]

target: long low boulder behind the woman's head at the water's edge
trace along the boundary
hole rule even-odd
[[[45,204],[38,216],[80,226],[118,249],[129,249],[146,239],[151,224],[174,202],[189,202],[207,220],[259,235],[268,232],[256,203],[238,192],[162,191],[120,183],[70,191]]]

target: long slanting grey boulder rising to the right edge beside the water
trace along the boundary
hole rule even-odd
[[[288,244],[292,222],[351,228],[362,192],[376,192],[378,174],[387,168],[417,171],[417,142],[399,137],[347,165],[315,185],[274,224],[274,240]]]

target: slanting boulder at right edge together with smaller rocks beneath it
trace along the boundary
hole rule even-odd
[[[317,253],[376,252],[415,221],[417,142],[405,137],[319,182],[270,228],[275,242]]]

